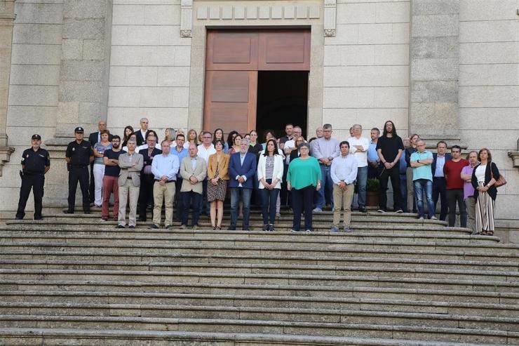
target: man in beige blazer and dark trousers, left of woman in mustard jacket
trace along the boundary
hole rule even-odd
[[[207,163],[198,157],[198,148],[193,143],[189,144],[189,157],[184,157],[180,164],[180,176],[182,176],[182,204],[184,213],[182,214],[181,229],[187,227],[187,216],[189,206],[193,207],[193,229],[198,228],[198,216],[200,215],[200,201],[203,193],[202,182],[207,176]]]

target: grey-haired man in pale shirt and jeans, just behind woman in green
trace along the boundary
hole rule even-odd
[[[316,144],[313,148],[314,152],[312,152],[312,156],[319,161],[319,166],[321,166],[321,189],[318,191],[314,213],[323,211],[325,199],[328,199],[330,204],[333,203],[333,182],[330,175],[330,166],[332,166],[333,159],[339,156],[339,141],[332,138],[332,125],[324,124],[323,128],[324,136],[315,140]]]

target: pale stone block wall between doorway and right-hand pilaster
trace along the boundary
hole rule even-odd
[[[353,124],[364,135],[393,120],[407,135],[409,1],[337,1],[336,36],[324,46],[323,122],[348,138]]]

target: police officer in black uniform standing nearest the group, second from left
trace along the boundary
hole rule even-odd
[[[85,131],[82,127],[74,129],[76,140],[69,142],[67,152],[65,153],[65,161],[69,170],[69,208],[65,213],[73,214],[76,204],[76,188],[77,182],[81,186],[81,194],[83,194],[83,212],[90,214],[90,203],[88,201],[88,165],[94,160],[94,152],[92,146],[86,140],[83,140]]]

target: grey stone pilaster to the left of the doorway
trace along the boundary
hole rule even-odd
[[[65,0],[56,139],[107,119],[111,32],[112,0]]]

